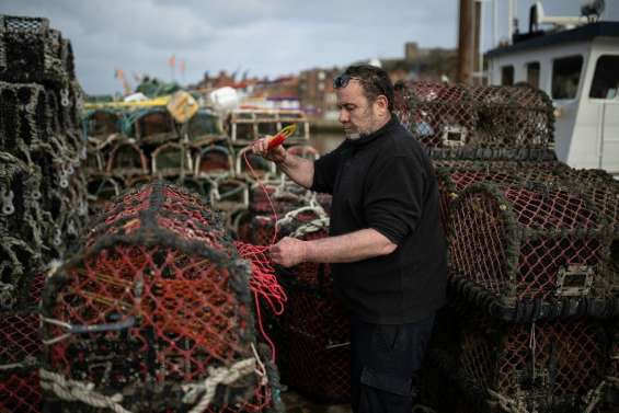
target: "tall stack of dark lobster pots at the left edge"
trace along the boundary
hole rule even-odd
[[[0,410],[41,410],[43,272],[87,219],[71,44],[46,19],[0,15]]]

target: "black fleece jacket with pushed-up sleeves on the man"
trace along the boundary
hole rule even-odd
[[[372,228],[398,245],[389,255],[333,264],[336,292],[355,316],[400,324],[443,306],[447,253],[436,176],[421,144],[394,116],[318,159],[312,190],[333,195],[331,236]]]

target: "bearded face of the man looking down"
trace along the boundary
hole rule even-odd
[[[364,95],[363,87],[356,79],[351,79],[345,88],[335,90],[340,123],[346,137],[358,139],[360,135],[369,135],[376,130],[375,105]]]

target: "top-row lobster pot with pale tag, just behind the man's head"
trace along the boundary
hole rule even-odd
[[[460,84],[411,82],[398,91],[396,114],[428,148],[461,147],[477,123],[474,101]]]

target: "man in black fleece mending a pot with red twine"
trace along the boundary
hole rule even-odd
[[[317,161],[253,150],[291,180],[333,195],[330,237],[282,239],[275,263],[333,263],[336,292],[351,310],[353,410],[410,413],[435,311],[445,299],[446,245],[438,191],[421,145],[392,115],[393,85],[379,68],[352,66],[335,78],[346,140]],[[329,366],[325,366],[329,368]]]

